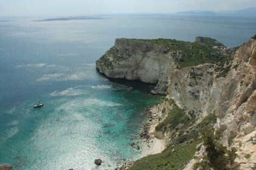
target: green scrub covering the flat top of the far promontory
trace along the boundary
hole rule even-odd
[[[176,39],[141,39],[168,48],[180,68],[197,66],[204,63],[218,63],[230,60],[221,50],[212,48],[213,45],[223,45],[215,39],[207,38],[202,43],[177,41]],[[216,44],[213,44],[216,43]],[[206,43],[206,44],[205,44]],[[210,45],[211,44],[211,45]],[[224,46],[224,45],[223,45]]]

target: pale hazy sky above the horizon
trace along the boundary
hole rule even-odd
[[[0,0],[0,15],[174,13],[249,7],[256,7],[256,0]]]

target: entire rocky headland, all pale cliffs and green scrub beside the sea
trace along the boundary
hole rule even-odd
[[[215,155],[226,161],[219,169],[256,168],[255,36],[236,48],[204,37],[116,39],[96,67],[106,77],[154,84],[152,94],[165,96],[151,109],[147,132],[166,149],[129,169],[218,169],[207,137],[224,153]]]

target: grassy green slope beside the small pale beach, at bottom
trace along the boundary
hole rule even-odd
[[[211,114],[204,118],[201,123],[194,124],[196,118],[192,112],[190,116],[172,102],[172,109],[165,120],[155,127],[156,131],[176,131],[171,135],[171,141],[165,151],[143,157],[135,161],[129,170],[151,170],[169,169],[177,170],[185,168],[188,161],[193,158],[196,146],[202,143],[201,132],[205,127],[213,126],[216,123],[216,116]]]

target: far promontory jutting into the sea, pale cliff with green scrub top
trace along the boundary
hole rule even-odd
[[[116,39],[115,46],[96,61],[96,68],[108,78],[156,84],[155,94],[166,95],[171,70],[233,58],[234,49],[213,48],[221,44],[216,39],[196,39]]]

